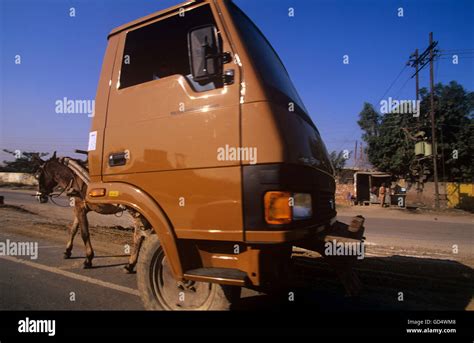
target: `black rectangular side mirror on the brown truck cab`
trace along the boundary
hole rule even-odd
[[[214,25],[201,26],[188,33],[189,65],[195,81],[222,76],[222,53]]]

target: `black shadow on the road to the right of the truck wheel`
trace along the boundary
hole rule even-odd
[[[367,257],[356,270],[363,290],[358,297],[345,297],[336,273],[323,258],[295,256],[295,276],[284,294],[243,298],[235,309],[462,311],[473,297],[473,270],[457,261],[398,255]]]

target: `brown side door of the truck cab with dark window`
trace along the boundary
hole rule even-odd
[[[140,187],[162,206],[178,237],[222,232],[242,237],[240,161],[217,151],[240,146],[239,70],[235,82],[196,82],[188,34],[214,25],[232,51],[210,4],[165,13],[120,35],[103,149],[104,181]]]

